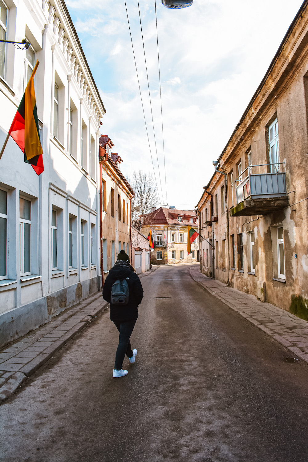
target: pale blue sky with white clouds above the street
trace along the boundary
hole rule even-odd
[[[158,207],[188,210],[199,201],[214,171],[212,161],[227,144],[302,1],[194,0],[188,8],[172,10],[156,0],[162,136],[155,0],[139,0],[156,146],[138,0],[126,3],[150,143],[124,0],[66,0],[107,111],[101,133],[123,159],[125,176],[139,169],[153,174],[154,165]]]

